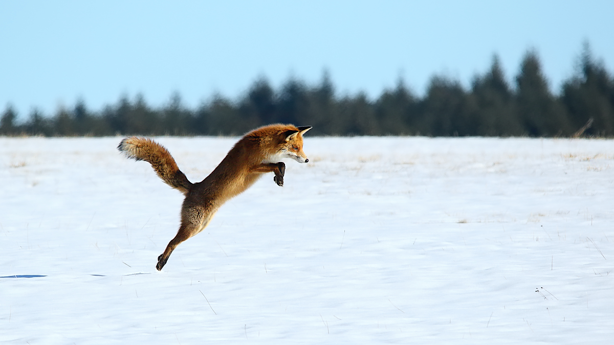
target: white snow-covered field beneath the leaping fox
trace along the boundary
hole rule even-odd
[[[158,272],[182,195],[120,139],[0,138],[0,341],[614,339],[614,141],[306,136]],[[157,139],[193,182],[236,140]]]

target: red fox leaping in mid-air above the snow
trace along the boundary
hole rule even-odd
[[[128,158],[147,161],[166,184],[185,195],[181,226],[158,257],[158,271],[181,242],[203,231],[223,203],[243,193],[262,174],[274,172],[274,182],[282,187],[286,165],[279,160],[309,161],[303,152],[303,134],[308,130],[311,126],[276,124],[257,128],[236,142],[217,168],[195,184],[179,170],[171,153],[162,145],[149,138],[123,139],[117,146],[120,152]]]

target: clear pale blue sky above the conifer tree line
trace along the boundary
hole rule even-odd
[[[378,97],[402,77],[423,95],[445,74],[468,86],[500,56],[510,83],[535,48],[554,92],[582,42],[614,72],[614,1],[2,1],[0,110],[20,118],[121,95],[195,107],[236,99],[260,76]],[[512,84],[513,85],[513,84]]]

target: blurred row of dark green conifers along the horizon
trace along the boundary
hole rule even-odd
[[[585,43],[575,75],[558,95],[548,87],[534,50],[521,61],[510,85],[495,55],[491,67],[475,76],[468,89],[458,80],[433,76],[418,97],[399,80],[396,87],[370,100],[364,93],[336,96],[325,72],[317,85],[288,80],[274,90],[255,81],[236,101],[221,95],[196,109],[174,94],[153,108],[142,96],[126,96],[98,112],[83,101],[60,108],[52,117],[37,109],[17,123],[9,105],[0,118],[0,135],[239,135],[269,123],[310,125],[319,135],[424,136],[614,136],[614,77]]]

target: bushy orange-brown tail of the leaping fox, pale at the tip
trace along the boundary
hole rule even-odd
[[[187,194],[193,185],[179,170],[171,153],[152,139],[136,136],[125,138],[119,143],[117,149],[128,158],[144,160],[151,164],[153,170],[165,184],[184,194]]]

